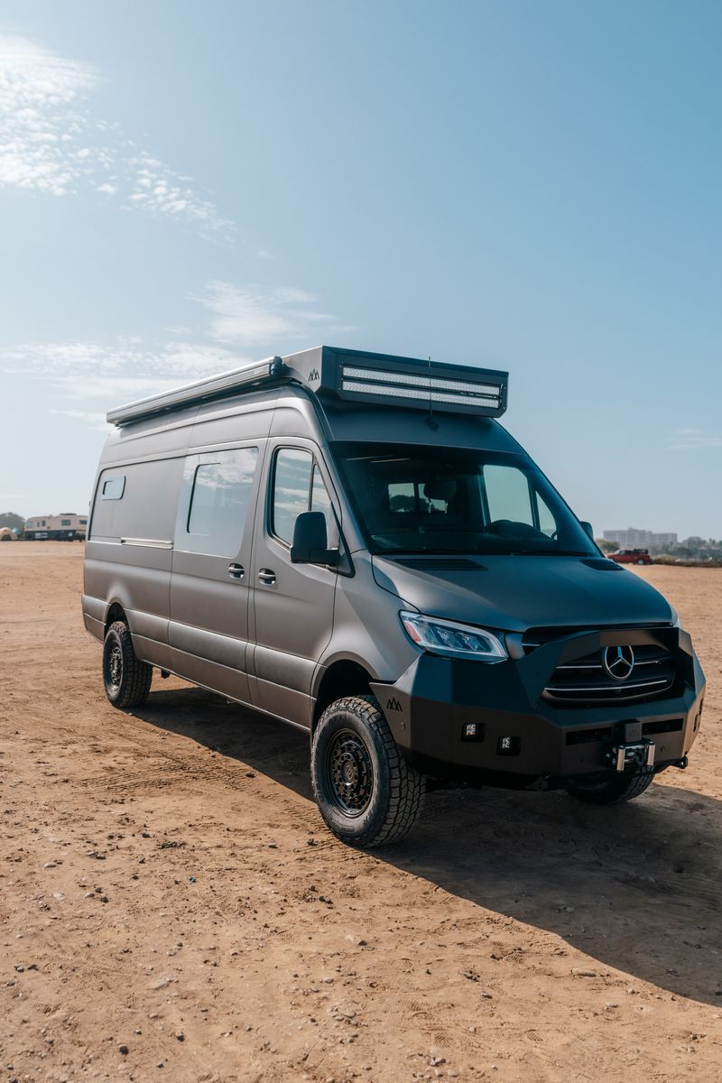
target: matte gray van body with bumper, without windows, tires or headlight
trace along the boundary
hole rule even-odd
[[[656,590],[593,545],[585,557],[493,554],[465,564],[371,551],[331,453],[337,442],[528,457],[478,410],[432,414],[397,400],[386,405],[382,394],[317,393],[310,377],[337,354],[305,351],[272,366],[258,386],[160,402],[155,413],[121,420],[95,482],[82,597],[88,631],[103,641],[121,618],[143,662],[307,731],[340,696],[372,693],[404,756],[437,779],[554,785],[600,771],[612,748],[642,739],[657,742],[657,769],[683,762],[705,689],[690,637]],[[417,373],[423,364],[385,360]],[[271,485],[284,448],[313,457],[330,498],[336,566],[293,563],[272,530]],[[222,553],[188,544],[194,479],[219,461],[248,468],[249,486],[242,536]],[[403,632],[399,611],[501,629],[509,657],[485,666],[421,651]],[[603,700],[555,702],[559,667],[626,647],[664,652],[673,665],[664,696],[627,702],[615,688]]]

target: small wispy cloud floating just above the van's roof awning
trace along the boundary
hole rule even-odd
[[[353,329],[319,311],[315,293],[291,286],[263,290],[212,282],[199,300],[210,313],[211,337],[234,345],[273,347],[283,342],[304,348],[317,345],[328,335]]]

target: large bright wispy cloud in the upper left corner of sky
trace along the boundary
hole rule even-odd
[[[24,38],[0,35],[0,186],[53,196],[91,190],[128,210],[227,238],[233,225],[176,173],[95,116],[95,68]]]

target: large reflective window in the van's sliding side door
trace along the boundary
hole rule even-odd
[[[258,447],[219,452],[193,472],[185,531],[175,544],[186,552],[235,557],[246,525]]]

